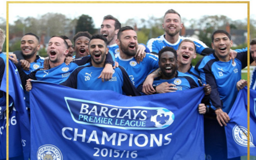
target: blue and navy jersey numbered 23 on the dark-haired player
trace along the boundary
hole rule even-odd
[[[204,56],[196,64],[202,82],[212,87],[210,94],[212,108],[222,108],[227,113],[230,111],[238,94],[236,82],[241,79],[241,70],[246,66],[247,54],[244,52],[237,54],[234,64],[232,60],[228,62],[218,60],[215,54]]]

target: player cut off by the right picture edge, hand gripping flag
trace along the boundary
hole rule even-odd
[[[247,51],[245,51],[245,52],[247,52]],[[256,39],[253,39],[250,42],[250,54],[251,54],[254,62],[256,62]],[[247,85],[247,80],[239,80],[236,83],[236,88],[237,88],[237,90],[240,90],[240,89],[244,88],[244,86],[246,86],[246,85]],[[252,74],[251,74],[250,88],[253,90],[256,90],[256,68],[254,68],[254,70],[252,71]]]

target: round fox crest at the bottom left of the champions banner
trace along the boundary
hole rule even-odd
[[[36,155],[37,160],[63,160],[60,149],[51,144],[40,146]]]

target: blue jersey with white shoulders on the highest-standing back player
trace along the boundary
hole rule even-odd
[[[191,37],[183,37],[183,36],[179,36],[179,39],[176,43],[172,44],[170,42],[168,42],[165,38],[165,35],[159,36],[158,38],[151,38],[150,40],[148,40],[147,42],[147,48],[150,50],[150,52],[154,52],[156,54],[158,54],[158,52],[166,47],[172,47],[175,50],[178,50],[178,46],[180,44],[180,42],[184,39],[190,39],[192,41],[194,41],[195,45],[196,45],[196,53],[201,54],[202,50],[204,50],[205,48],[208,48],[206,46],[206,44],[204,44],[202,41],[196,39],[196,38],[191,38]]]

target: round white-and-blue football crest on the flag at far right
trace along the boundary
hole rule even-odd
[[[238,126],[238,125],[234,126],[233,139],[238,145],[247,147],[247,134],[248,134],[248,131],[245,127]],[[250,147],[255,147],[253,144],[253,137],[251,133],[250,133]]]

